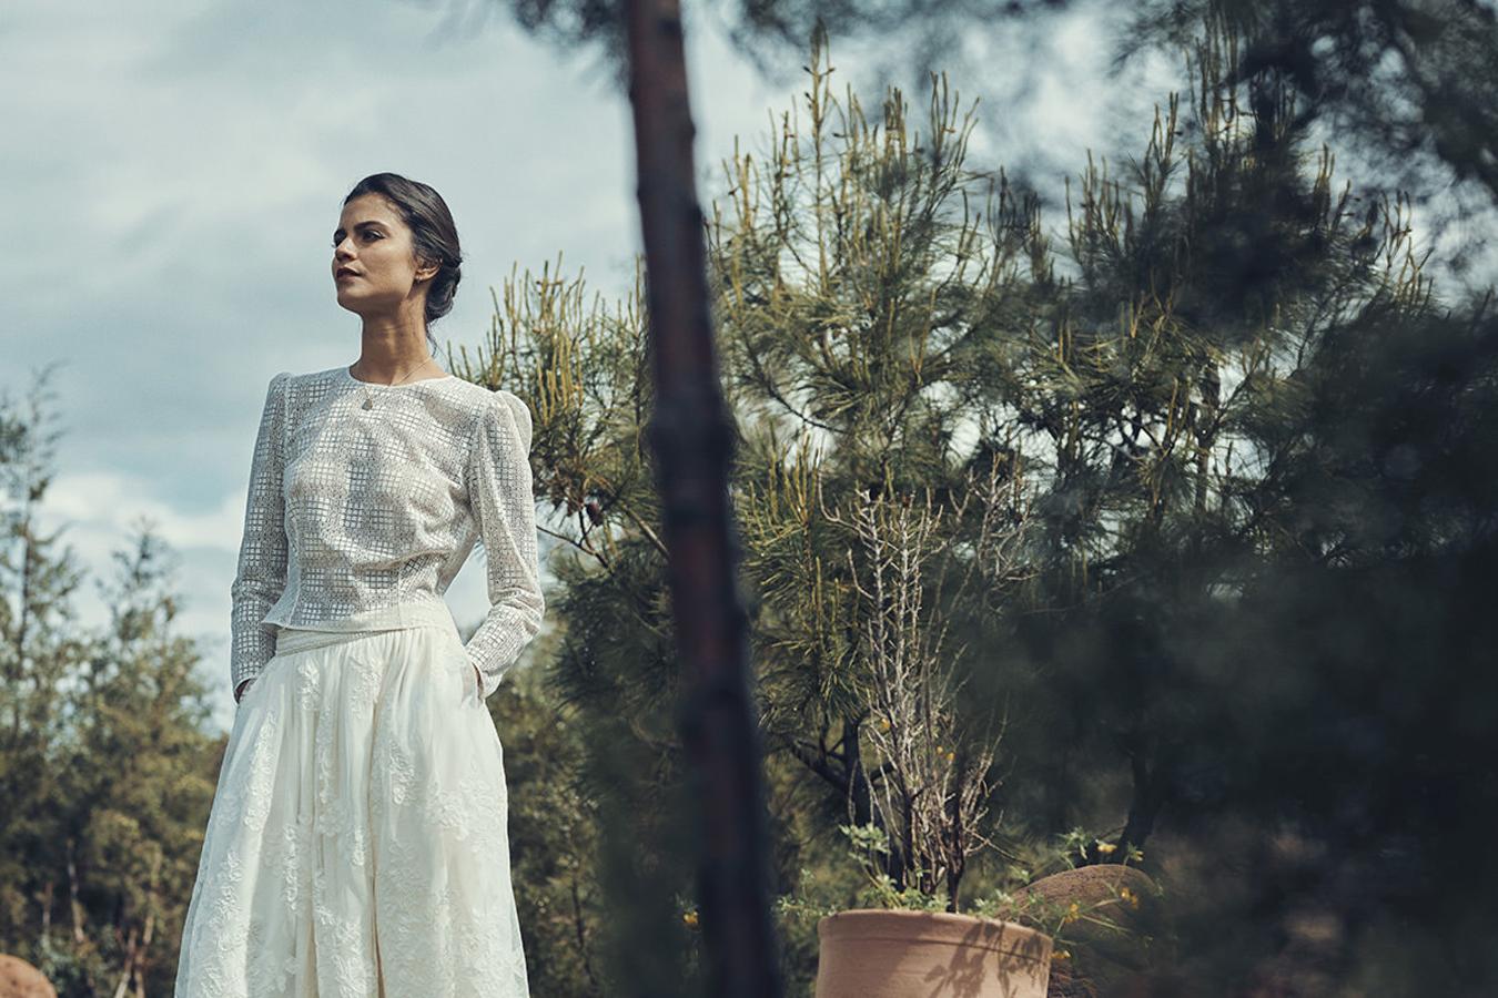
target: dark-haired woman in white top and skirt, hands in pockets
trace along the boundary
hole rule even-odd
[[[238,703],[178,998],[517,998],[503,751],[485,699],[541,627],[530,413],[446,374],[442,198],[367,177],[333,233],[358,362],[270,382],[232,585]],[[443,601],[475,542],[491,607]]]

